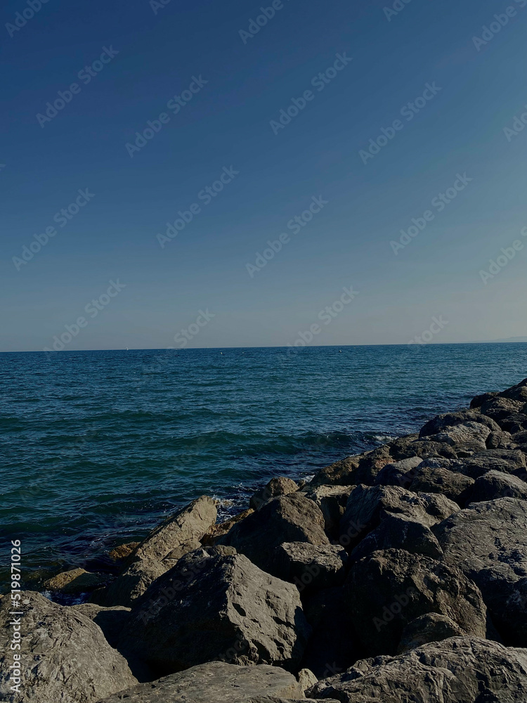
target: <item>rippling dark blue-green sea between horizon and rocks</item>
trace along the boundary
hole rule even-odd
[[[0,354],[1,531],[86,565],[209,494],[221,515],[527,375],[527,344]]]

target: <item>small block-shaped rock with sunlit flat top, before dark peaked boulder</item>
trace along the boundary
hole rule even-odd
[[[336,544],[285,542],[276,548],[275,560],[275,574],[294,583],[302,595],[341,586],[346,578],[348,555]]]

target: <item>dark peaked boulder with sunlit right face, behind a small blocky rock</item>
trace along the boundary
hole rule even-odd
[[[275,567],[275,548],[283,542],[330,543],[320,508],[302,494],[278,496],[219,540],[270,574]]]

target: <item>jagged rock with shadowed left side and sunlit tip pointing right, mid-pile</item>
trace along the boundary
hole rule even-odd
[[[399,486],[357,486],[341,520],[342,546],[353,549],[387,515],[408,515],[427,527],[459,510],[439,494],[415,494]]]

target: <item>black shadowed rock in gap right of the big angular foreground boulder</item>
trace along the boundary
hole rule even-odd
[[[344,671],[360,657],[353,619],[346,607],[344,588],[326,588],[304,600],[304,614],[313,628],[302,666],[317,678]]]

